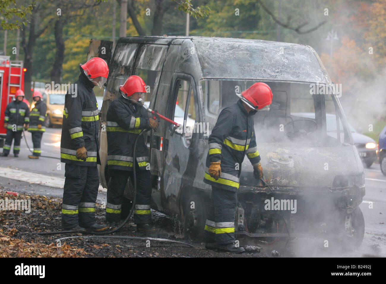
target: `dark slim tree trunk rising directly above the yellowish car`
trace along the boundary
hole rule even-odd
[[[51,81],[55,83],[61,83],[61,77],[63,73],[63,60],[64,60],[64,41],[63,41],[63,17],[59,17],[55,22],[54,34],[56,53],[55,61],[51,70]]]

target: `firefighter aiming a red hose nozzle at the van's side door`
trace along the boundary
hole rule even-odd
[[[121,96],[111,103],[107,111],[107,165],[111,178],[107,186],[106,219],[111,229],[117,227],[127,179],[134,179],[133,167],[136,167],[134,223],[137,224],[137,231],[156,233],[150,213],[150,160],[143,135],[137,141],[134,165],[133,147],[141,129],[156,131],[158,122],[149,118],[142,106],[146,84],[141,77],[130,76],[124,85],[119,86],[119,90]]]

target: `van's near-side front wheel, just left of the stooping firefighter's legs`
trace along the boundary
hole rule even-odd
[[[194,193],[186,199],[184,211],[184,234],[190,241],[201,242],[207,217],[207,206],[203,197]]]

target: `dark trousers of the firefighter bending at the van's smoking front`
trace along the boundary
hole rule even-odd
[[[212,186],[212,197],[205,223],[207,243],[226,245],[235,241],[236,192]]]

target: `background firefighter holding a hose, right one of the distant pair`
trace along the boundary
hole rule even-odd
[[[28,155],[30,159],[39,159],[41,154],[40,144],[42,136],[46,128],[44,122],[46,121],[47,105],[42,101],[43,96],[41,92],[34,91],[32,99],[35,101],[35,106],[30,113],[30,122],[28,131],[32,134],[32,143],[34,144],[34,152]]]

